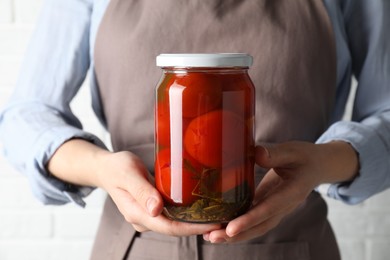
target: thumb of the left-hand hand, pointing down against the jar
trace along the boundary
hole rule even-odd
[[[140,170],[141,173],[134,171],[128,175],[125,188],[150,216],[158,216],[163,209],[163,200],[157,189],[147,179],[149,175],[147,170],[143,168]]]

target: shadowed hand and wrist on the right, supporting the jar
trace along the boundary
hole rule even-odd
[[[348,181],[358,172],[355,150],[342,141],[258,146],[256,163],[270,170],[256,188],[253,207],[226,229],[205,234],[205,240],[223,243],[259,237],[277,226],[319,184]]]

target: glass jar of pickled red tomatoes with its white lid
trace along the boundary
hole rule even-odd
[[[155,181],[164,214],[228,222],[254,195],[254,86],[247,54],[161,54]]]

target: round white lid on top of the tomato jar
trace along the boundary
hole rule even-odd
[[[250,67],[252,62],[246,53],[164,53],[156,57],[158,67]]]

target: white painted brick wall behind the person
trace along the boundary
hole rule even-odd
[[[0,0],[0,107],[16,75],[42,0]],[[105,138],[83,87],[73,107],[87,130]],[[27,180],[0,157],[0,259],[88,259],[105,194],[94,192],[86,209],[42,206]],[[344,260],[390,259],[390,191],[358,205],[327,200]],[[331,259],[330,259],[331,260]]]

